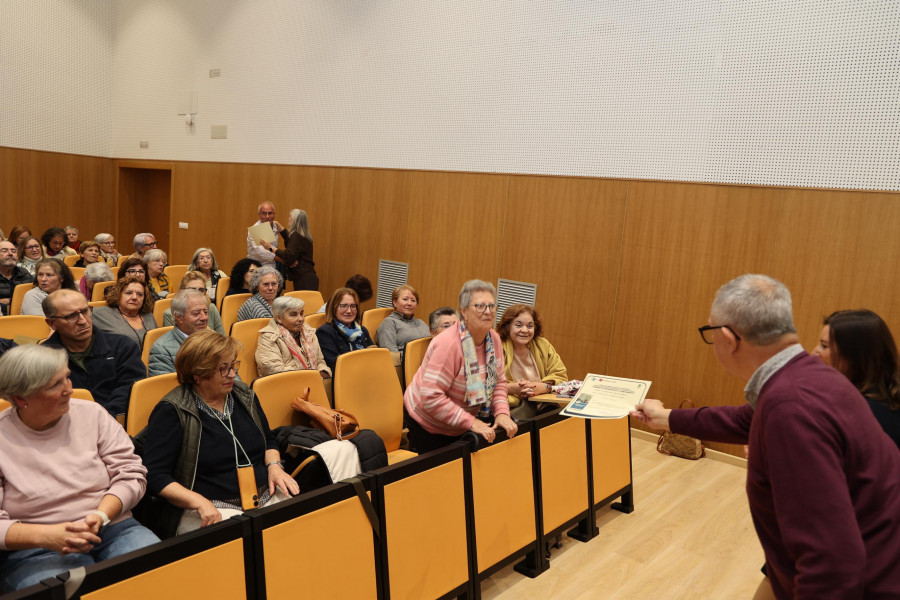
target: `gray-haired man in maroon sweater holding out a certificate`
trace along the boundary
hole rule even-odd
[[[700,328],[747,404],[632,416],[749,444],[747,497],[778,598],[900,598],[900,453],[843,375],[798,343],[791,295],[765,275],[722,286]]]

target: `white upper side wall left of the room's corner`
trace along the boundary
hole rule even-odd
[[[113,6],[0,0],[0,146],[111,156]]]

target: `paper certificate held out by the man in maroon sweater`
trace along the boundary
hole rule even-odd
[[[619,419],[628,416],[647,397],[649,381],[588,374],[562,413],[583,419]]]

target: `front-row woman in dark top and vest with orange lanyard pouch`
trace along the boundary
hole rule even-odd
[[[235,381],[238,348],[233,338],[210,330],[189,336],[175,358],[181,385],[150,415],[143,458],[148,490],[169,503],[157,518],[161,535],[192,531],[253,508],[253,494],[265,506],[300,491],[281,466],[259,400]],[[241,493],[240,467],[252,469],[249,496],[246,488]]]

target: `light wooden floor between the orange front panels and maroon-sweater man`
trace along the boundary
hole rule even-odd
[[[747,506],[746,469],[664,456],[641,433],[632,436],[634,512],[602,509],[596,538],[563,536],[550,569],[529,579],[507,567],[483,583],[484,598],[753,597],[763,553]]]

